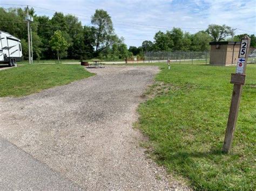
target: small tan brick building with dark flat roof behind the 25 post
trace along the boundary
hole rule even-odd
[[[210,65],[235,65],[239,55],[240,42],[211,42]]]

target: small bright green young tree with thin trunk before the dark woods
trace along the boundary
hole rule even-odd
[[[51,37],[50,45],[53,51],[57,51],[58,63],[59,63],[59,54],[66,51],[66,49],[68,49],[69,47],[69,44],[63,37],[61,31],[59,30],[55,31],[55,33]]]

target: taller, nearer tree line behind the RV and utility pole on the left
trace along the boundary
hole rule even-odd
[[[26,9],[0,8],[0,30],[21,39],[24,59],[28,59],[28,31]],[[32,39],[34,59],[124,59],[132,56],[124,39],[114,33],[111,17],[104,10],[96,10],[91,17],[93,26],[83,26],[77,17],[55,12],[52,18],[33,16]]]

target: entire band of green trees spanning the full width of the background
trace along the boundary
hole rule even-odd
[[[159,31],[154,35],[154,41],[145,40],[142,46],[130,46],[124,43],[123,37],[114,33],[110,15],[102,10],[96,10],[91,17],[92,26],[83,26],[76,16],[55,12],[52,18],[37,16],[32,8],[28,10],[33,16],[32,39],[34,59],[125,59],[132,55],[142,57],[148,51],[207,51],[210,41],[230,40],[232,30],[226,25],[209,25],[205,31],[195,34],[173,27],[166,32]],[[28,33],[26,9],[0,8],[0,30],[9,32],[22,41],[24,59],[28,59]],[[234,36],[239,41],[241,36]],[[256,46],[254,35],[251,46]]]

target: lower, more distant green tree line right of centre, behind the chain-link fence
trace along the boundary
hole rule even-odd
[[[195,34],[183,32],[180,28],[173,27],[171,31],[159,31],[154,36],[154,42],[145,40],[142,46],[130,46],[129,51],[134,55],[143,55],[144,52],[177,52],[177,51],[209,51],[211,41],[240,41],[245,35],[251,38],[251,47],[256,48],[254,34],[239,34],[232,39],[233,31],[226,25],[208,25],[208,28]],[[230,37],[230,38],[228,38]]]

